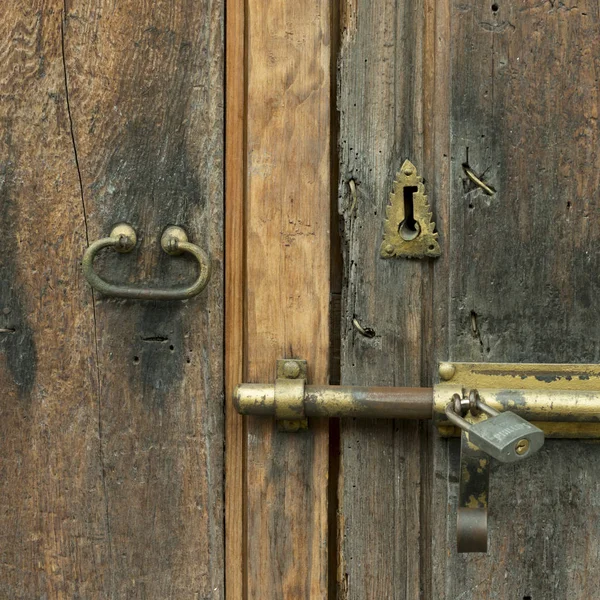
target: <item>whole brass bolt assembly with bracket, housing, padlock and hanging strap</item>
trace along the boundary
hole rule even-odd
[[[278,361],[275,384],[239,385],[234,404],[274,416],[286,431],[305,428],[308,417],[433,419],[442,437],[461,436],[458,551],[486,552],[490,455],[529,457],[541,432],[600,439],[600,365],[442,363],[438,375],[433,388],[312,386],[306,363],[288,359]]]

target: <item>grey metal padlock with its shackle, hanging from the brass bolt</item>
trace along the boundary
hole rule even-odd
[[[469,423],[457,414],[463,402],[458,396],[446,407],[448,419],[469,434],[469,441],[500,462],[510,463],[527,458],[544,445],[544,432],[513,412],[498,412],[479,398],[476,390],[470,393],[470,410],[482,410],[490,418]]]

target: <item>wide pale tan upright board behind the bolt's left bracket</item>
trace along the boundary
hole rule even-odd
[[[284,357],[327,381],[330,52],[327,1],[248,3],[249,381],[272,381]],[[248,598],[326,597],[328,424],[247,431]]]

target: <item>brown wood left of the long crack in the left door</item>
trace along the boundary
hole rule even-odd
[[[0,597],[106,598],[94,313],[62,2],[0,11]]]

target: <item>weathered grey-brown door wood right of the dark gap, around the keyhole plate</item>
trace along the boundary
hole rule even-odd
[[[430,385],[443,360],[598,362],[597,5],[345,5],[342,381]],[[439,259],[378,256],[405,159]],[[456,552],[458,455],[429,424],[342,421],[341,597],[599,597],[597,444],[549,440],[493,468],[487,555]]]

